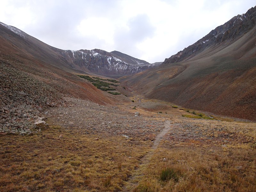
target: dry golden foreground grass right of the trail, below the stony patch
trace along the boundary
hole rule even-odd
[[[256,191],[255,156],[256,150],[251,148],[161,146],[134,191]],[[177,182],[160,180],[166,167],[177,174]]]

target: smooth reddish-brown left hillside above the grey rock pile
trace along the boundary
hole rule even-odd
[[[56,48],[27,34],[26,38],[23,38],[0,25],[1,61],[50,85],[60,94],[68,94],[100,104],[111,103],[105,93],[73,75],[72,73],[84,72],[72,69],[67,62],[59,59],[60,57],[52,49]]]

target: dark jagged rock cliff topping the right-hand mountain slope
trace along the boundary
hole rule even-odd
[[[190,59],[203,52],[205,49],[234,40],[236,37],[251,30],[255,23],[256,6],[249,9],[245,14],[237,15],[223,25],[213,29],[209,34],[199,39],[196,43],[188,46],[183,51],[165,59],[164,63],[174,63]]]

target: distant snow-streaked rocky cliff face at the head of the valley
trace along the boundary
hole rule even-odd
[[[73,68],[100,75],[132,75],[158,66],[124,53],[93,50],[59,50],[59,53],[72,64]]]

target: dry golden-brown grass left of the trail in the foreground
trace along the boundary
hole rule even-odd
[[[150,144],[71,134],[60,127],[32,136],[2,136],[0,191],[121,190]]]

